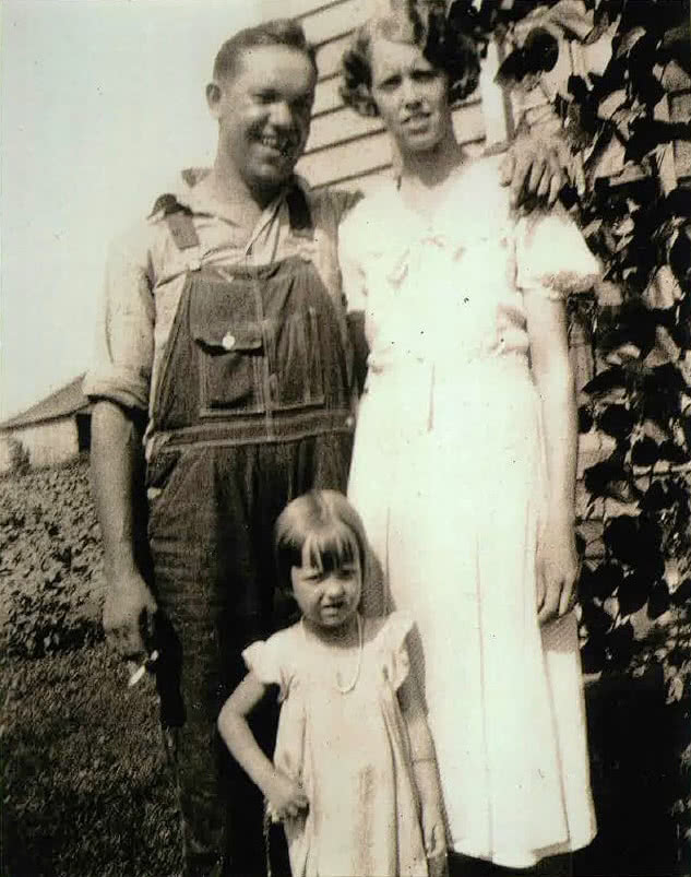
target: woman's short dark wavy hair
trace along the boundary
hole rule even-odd
[[[425,58],[449,79],[449,100],[455,104],[477,87],[480,47],[474,10],[456,0],[449,10],[443,0],[388,0],[354,37],[341,62],[344,103],[360,116],[377,116],[372,98],[371,44],[376,37],[418,46]]]

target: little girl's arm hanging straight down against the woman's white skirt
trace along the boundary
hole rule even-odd
[[[436,858],[446,851],[441,787],[434,744],[429,733],[422,698],[412,675],[398,688],[398,702],[410,740],[413,771],[420,797],[425,850],[429,858]]]

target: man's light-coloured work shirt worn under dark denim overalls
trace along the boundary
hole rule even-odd
[[[163,210],[112,244],[85,394],[151,414],[152,390],[159,377],[186,274],[200,265],[252,268],[300,256],[313,263],[336,307],[343,310],[337,228],[356,197],[343,191],[311,191],[301,179],[298,185],[312,214],[313,238],[291,229],[286,187],[262,212],[247,239],[228,205],[214,197],[209,171],[183,171],[174,194],[192,213],[199,246],[179,249]]]

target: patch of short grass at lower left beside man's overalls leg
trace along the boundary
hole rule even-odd
[[[102,643],[2,667],[2,877],[165,877],[179,869],[151,679]]]

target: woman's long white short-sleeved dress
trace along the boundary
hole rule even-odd
[[[563,213],[516,218],[499,159],[463,165],[432,222],[394,181],[341,228],[369,371],[348,495],[383,571],[366,613],[419,629],[450,845],[509,867],[595,833],[576,620],[540,629],[546,479],[523,295],[589,288],[599,266]]]

